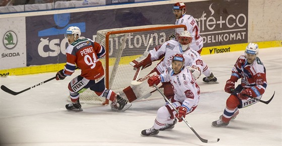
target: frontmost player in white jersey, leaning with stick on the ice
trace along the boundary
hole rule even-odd
[[[144,136],[156,135],[160,130],[174,128],[174,125],[182,121],[186,114],[195,110],[200,98],[200,89],[188,66],[184,66],[185,59],[182,54],[173,56],[172,65],[168,70],[159,75],[149,78],[149,86],[158,85],[160,82],[169,82],[173,86],[174,97],[170,99],[178,113],[166,104],[158,109],[157,117],[152,128],[145,129],[141,132]],[[177,119],[176,119],[177,118]]]

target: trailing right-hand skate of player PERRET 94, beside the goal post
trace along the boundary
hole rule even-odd
[[[111,103],[112,111],[126,111],[132,104],[123,99],[120,95],[117,95],[117,101]],[[118,105],[117,105],[118,104]]]

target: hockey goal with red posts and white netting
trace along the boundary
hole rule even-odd
[[[97,31],[96,42],[104,46],[107,52],[105,57],[99,59],[105,69],[106,88],[118,93],[128,87],[136,72],[129,62],[143,55],[148,45],[148,51],[152,50],[168,41],[176,32],[184,30],[185,25],[147,25]],[[149,44],[151,38],[153,41]],[[147,76],[158,62],[154,61],[151,66],[141,70],[138,77]],[[80,94],[81,103],[102,104],[104,101],[104,97],[97,96],[90,89]]]

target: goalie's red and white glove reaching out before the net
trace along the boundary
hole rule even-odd
[[[135,60],[129,62],[130,65],[132,65],[133,67],[139,68],[142,67],[142,69],[152,65],[152,60],[151,60],[151,54],[146,51],[144,52],[144,54],[138,58],[136,58]]]

